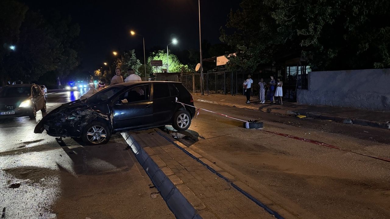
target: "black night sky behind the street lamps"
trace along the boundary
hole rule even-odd
[[[241,0],[201,0],[202,40],[219,43],[219,28],[225,26],[230,9],[236,10]],[[30,8],[43,14],[55,9],[70,14],[81,28],[83,48],[81,71],[93,71],[113,59],[112,51],[123,52],[142,48],[142,37],[133,37],[129,30],[145,36],[145,48],[166,48],[173,37],[179,44],[170,49],[199,49],[199,17],[197,0],[128,0],[119,1],[40,1],[25,0]],[[142,50],[141,50],[142,51]],[[142,56],[143,54],[137,54]],[[111,60],[110,60],[111,59]],[[141,60],[143,63],[143,60]]]

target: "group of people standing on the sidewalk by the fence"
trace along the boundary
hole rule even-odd
[[[245,89],[246,94],[246,104],[250,104],[250,94],[252,90],[253,80],[251,78],[251,75],[248,74],[248,79],[246,79],[243,83],[243,88]],[[269,83],[265,83],[264,79],[261,78],[259,82],[259,99],[260,103],[265,103],[266,101],[266,95],[269,97],[269,100],[271,101],[271,104],[276,104],[277,102],[275,99],[278,99],[278,104],[283,104],[282,97],[283,97],[283,90],[282,90],[283,82],[280,77],[277,78],[277,81],[275,81],[274,77],[271,76],[271,80]]]

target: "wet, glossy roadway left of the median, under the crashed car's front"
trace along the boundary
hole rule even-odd
[[[81,94],[48,94],[47,109]],[[161,196],[151,196],[156,188],[120,136],[103,146],[66,138],[67,147],[60,147],[46,132],[34,134],[43,116],[0,120],[0,211],[5,207],[6,219],[174,218]]]

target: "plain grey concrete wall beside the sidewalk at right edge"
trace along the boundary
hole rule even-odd
[[[390,111],[390,69],[310,72],[297,102]]]

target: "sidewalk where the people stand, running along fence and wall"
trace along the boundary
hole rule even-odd
[[[306,115],[311,118],[344,122],[347,124],[366,125],[371,127],[390,129],[390,112],[372,111],[339,106],[315,106],[302,105],[295,102],[284,101],[283,105],[270,104],[267,101],[261,104],[257,97],[251,97],[251,104],[246,104],[243,95],[192,94],[195,101],[208,102],[237,108],[261,110],[267,113],[279,113],[284,115]],[[196,105],[195,105],[196,106]]]

